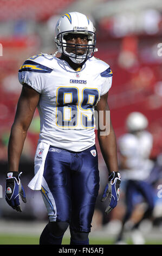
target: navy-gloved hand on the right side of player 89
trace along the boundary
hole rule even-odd
[[[121,176],[119,172],[112,172],[109,175],[108,183],[102,195],[101,202],[108,200],[108,206],[105,210],[106,214],[109,214],[118,203],[119,200],[119,186],[121,182]]]

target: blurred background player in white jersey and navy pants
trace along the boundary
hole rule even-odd
[[[126,181],[126,214],[122,220],[122,228],[117,241],[122,240],[124,224],[134,210],[134,196],[140,193],[147,203],[146,211],[138,223],[132,224],[132,239],[134,243],[144,243],[138,226],[144,218],[150,218],[154,207],[153,190],[147,179],[154,163],[150,160],[153,138],[148,132],[148,120],[140,112],[132,112],[126,119],[129,133],[121,136],[118,141],[120,151],[120,169],[122,179]]]

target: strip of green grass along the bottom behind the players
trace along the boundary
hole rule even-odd
[[[126,241],[129,245],[131,241]],[[62,245],[69,245],[70,239],[64,237]],[[113,240],[103,240],[97,238],[89,239],[90,245],[112,245]],[[27,236],[27,235],[2,235],[0,234],[0,245],[38,245],[39,236]],[[162,245],[162,240],[146,241],[146,245]]]

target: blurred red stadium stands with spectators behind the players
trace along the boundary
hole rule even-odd
[[[108,103],[117,139],[126,132],[127,114],[139,111],[148,118],[149,130],[154,137],[151,158],[157,161],[157,157],[162,152],[162,56],[158,54],[158,44],[162,43],[161,0],[1,0],[0,43],[3,46],[3,56],[0,56],[0,164],[2,174],[7,167],[9,133],[21,92],[21,85],[17,79],[18,69],[25,59],[34,54],[55,52],[56,20],[67,11],[74,10],[85,13],[94,21],[96,46],[99,49],[95,57],[107,62],[112,68],[113,85],[109,92]],[[36,111],[21,159],[22,170],[27,169],[28,172],[26,183],[33,175],[38,121]],[[106,174],[101,154],[99,157],[99,167],[103,170],[102,187]],[[161,180],[159,179],[158,182]],[[2,184],[4,186],[4,178]],[[30,197],[31,192],[28,189],[27,191]],[[4,199],[2,200],[1,206],[2,202],[4,203]],[[155,200],[158,200],[156,195]],[[27,213],[28,217],[31,217],[30,207]],[[11,210],[3,206],[0,214],[2,217],[8,217],[11,215]],[[13,216],[17,216],[17,213],[15,212],[14,215],[12,212]],[[36,218],[37,213],[34,216]],[[44,214],[42,216],[44,218]],[[24,214],[24,217],[27,216]],[[112,217],[121,218],[116,211]],[[109,219],[105,220],[105,223],[108,221]]]

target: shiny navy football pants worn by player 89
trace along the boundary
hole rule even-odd
[[[41,192],[50,222],[69,222],[71,230],[90,232],[99,192],[95,145],[78,153],[50,146]]]

